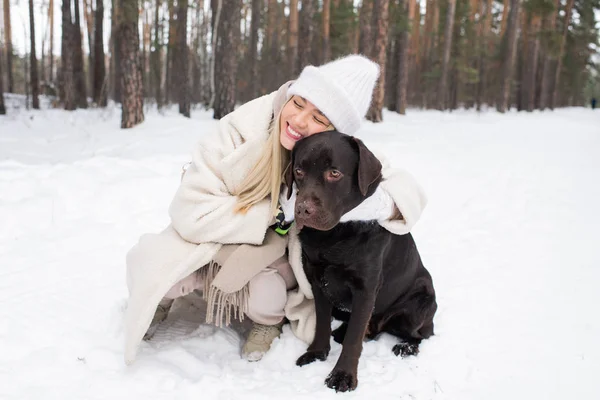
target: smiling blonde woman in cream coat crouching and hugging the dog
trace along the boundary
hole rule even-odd
[[[360,128],[378,76],[377,64],[359,55],[308,66],[296,81],[226,115],[197,145],[169,208],[171,224],[142,236],[127,254],[127,363],[173,299],[195,289],[208,301],[207,322],[254,322],[242,349],[248,360],[268,351],[284,319],[312,341],[312,293],[291,225],[294,197],[286,200],[282,176],[298,140]],[[378,220],[392,233],[408,233],[425,196],[409,174],[380,161],[379,189],[342,220]]]

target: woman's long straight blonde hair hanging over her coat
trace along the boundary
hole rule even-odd
[[[271,212],[276,215],[283,173],[290,158],[289,151],[279,139],[280,118],[281,111],[271,120],[269,138],[262,154],[236,193],[239,199],[235,212],[246,213],[253,205],[271,196]]]

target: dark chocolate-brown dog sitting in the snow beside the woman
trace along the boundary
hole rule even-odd
[[[295,221],[317,314],[315,338],[296,364],[325,360],[331,317],[344,321],[333,332],[342,353],[325,383],[353,390],[365,337],[397,336],[392,350],[404,357],[433,335],[433,282],[410,234],[393,235],[374,222],[339,222],[382,179],[381,163],[360,140],[332,131],[299,141],[285,179],[298,187]]]

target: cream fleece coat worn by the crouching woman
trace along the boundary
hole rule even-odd
[[[233,212],[237,197],[231,193],[237,192],[257,162],[268,137],[273,110],[282,106],[286,90],[287,84],[278,92],[244,104],[219,121],[216,132],[193,149],[192,163],[169,208],[171,224],[158,234],[143,235],[127,254],[129,301],[124,321],[127,364],[135,360],[158,303],[175,283],[213,261],[223,245],[248,244],[249,249],[260,251],[259,246],[273,222],[270,200],[261,201],[241,215]],[[426,197],[411,175],[391,169],[379,158],[384,166],[381,186],[392,196],[403,216],[401,220],[381,225],[392,233],[406,234],[419,219]],[[279,246],[281,242],[278,243]],[[294,226],[288,234],[287,246],[298,287],[288,292],[285,314],[293,333],[310,343],[316,323],[313,295],[302,267],[302,250]],[[237,259],[244,258],[238,254]],[[220,270],[215,282],[220,282],[225,290],[238,290],[258,272],[245,272],[243,263],[237,268]]]

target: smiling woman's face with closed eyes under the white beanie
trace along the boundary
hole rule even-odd
[[[303,137],[333,129],[331,122],[310,101],[300,96],[292,98],[283,106],[279,121],[281,145],[292,150]]]

